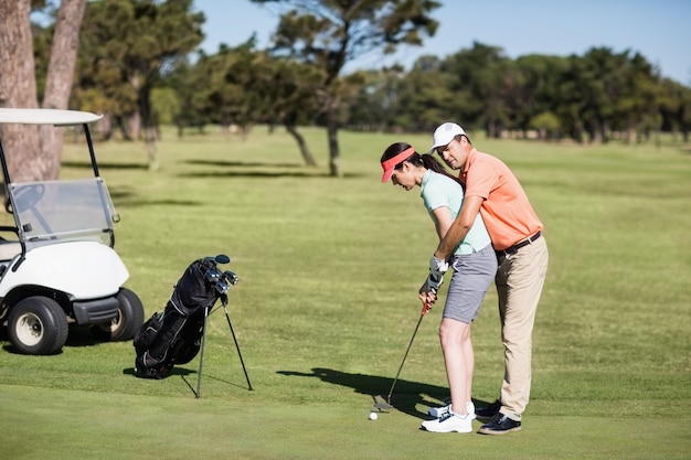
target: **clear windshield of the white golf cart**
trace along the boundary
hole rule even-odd
[[[118,216],[102,178],[11,183],[8,192],[26,250],[85,239],[113,246]]]

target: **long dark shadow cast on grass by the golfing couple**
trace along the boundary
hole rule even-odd
[[[349,374],[331,368],[313,367],[312,373],[296,371],[278,371],[278,374],[291,377],[312,377],[322,382],[353,388],[355,393],[369,395],[375,403],[386,402],[393,378],[378,375]],[[448,398],[448,388],[437,385],[428,385],[419,382],[402,381],[398,378],[391,396],[391,405],[402,413],[421,419],[428,419],[427,407],[439,406]],[[486,403],[480,403],[486,405]],[[424,406],[424,411],[417,406]]]

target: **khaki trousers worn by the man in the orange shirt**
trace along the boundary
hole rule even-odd
[[[520,420],[530,399],[532,331],[548,272],[549,252],[545,238],[540,237],[513,255],[499,254],[495,282],[504,346],[500,411]]]

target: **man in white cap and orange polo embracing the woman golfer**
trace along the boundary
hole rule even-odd
[[[475,149],[460,126],[440,125],[433,140],[430,152],[436,150],[448,167],[460,171],[466,196],[429,261],[430,275],[440,278],[446,271],[449,255],[464,239],[479,211],[499,263],[495,284],[504,346],[504,377],[500,399],[477,409],[478,418],[489,419],[478,432],[518,431],[530,398],[532,329],[549,261],[541,233],[543,225],[511,170],[498,158]],[[436,300],[426,285],[421,297]]]

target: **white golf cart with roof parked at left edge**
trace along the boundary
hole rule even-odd
[[[57,353],[72,325],[88,327],[100,341],[127,341],[143,323],[141,301],[123,287],[129,272],[114,250],[119,217],[89,136],[88,124],[100,118],[75,110],[0,108],[3,125],[83,132],[94,173],[13,182],[7,158],[21,152],[6,151],[0,139],[8,212],[0,220],[8,224],[0,225],[0,323],[19,353]]]

